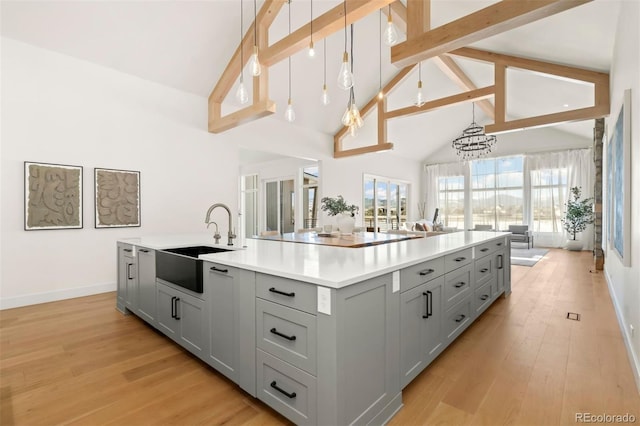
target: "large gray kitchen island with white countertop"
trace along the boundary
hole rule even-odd
[[[118,307],[298,424],[387,422],[402,388],[510,293],[496,232],[361,248],[248,240],[200,255],[202,293],[153,273],[156,251],[211,243],[120,240]]]

